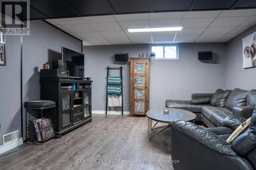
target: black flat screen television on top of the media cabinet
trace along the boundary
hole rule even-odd
[[[64,69],[69,70],[70,78],[84,78],[84,54],[61,46]]]

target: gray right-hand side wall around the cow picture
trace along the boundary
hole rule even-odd
[[[256,68],[243,69],[242,39],[256,31],[256,25],[227,42],[226,49],[226,88],[256,88]]]

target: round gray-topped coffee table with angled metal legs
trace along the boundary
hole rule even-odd
[[[183,109],[169,109],[169,113],[163,113],[163,109],[149,110],[146,112],[146,116],[148,117],[148,139],[162,132],[164,129],[170,126],[170,123],[174,120],[185,120],[188,122],[194,123],[196,118],[196,114],[193,112],[183,110]],[[155,120],[157,123],[152,127],[152,120]],[[166,123],[167,125],[154,128],[159,122]],[[152,136],[150,136],[150,130],[162,128],[160,131],[156,132]]]

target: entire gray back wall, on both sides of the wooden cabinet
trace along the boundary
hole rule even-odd
[[[115,53],[129,57],[149,53],[148,44],[86,46],[86,76],[92,77],[93,110],[105,110],[106,67],[119,67]],[[214,60],[201,62],[198,51],[213,51]],[[124,111],[130,111],[130,63],[124,66]],[[115,76],[115,75],[114,75]],[[190,100],[191,93],[215,92],[225,88],[225,43],[180,44],[179,60],[152,60],[150,63],[150,108],[163,108],[166,99]]]

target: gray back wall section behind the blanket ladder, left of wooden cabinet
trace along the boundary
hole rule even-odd
[[[136,45],[99,45],[83,47],[85,55],[86,77],[93,80],[92,110],[105,110],[106,67],[123,66],[123,103],[124,111],[130,111],[130,62],[115,62],[115,53],[129,53],[129,57],[138,57],[148,53],[147,44]],[[119,76],[119,72],[111,70],[111,76]]]

